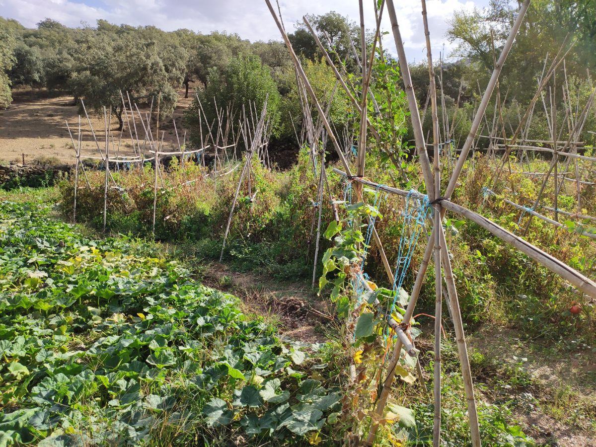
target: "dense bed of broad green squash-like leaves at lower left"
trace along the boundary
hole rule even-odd
[[[328,436],[327,347],[280,339],[151,246],[48,213],[0,204],[0,445]]]

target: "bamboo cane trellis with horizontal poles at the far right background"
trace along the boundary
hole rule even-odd
[[[589,115],[589,110],[594,108],[594,94],[596,93],[596,89],[592,89],[591,94],[586,100],[585,106],[583,106],[580,110],[579,108],[579,96],[576,98],[576,110],[575,113],[572,107],[572,97],[570,94],[569,89],[569,79],[567,77],[567,69],[565,63],[565,57],[569,53],[570,48],[573,45],[570,45],[570,48],[567,51],[563,52],[564,46],[566,45],[567,38],[564,40],[563,44],[561,45],[557,55],[553,58],[550,67],[547,70],[547,61],[548,61],[548,54],[544,60],[544,68],[542,70],[542,75],[536,80],[538,84],[538,89],[536,90],[532,101],[530,101],[530,105],[527,107],[523,117],[520,116],[519,107],[518,107],[518,118],[519,118],[519,125],[517,125],[516,131],[513,131],[513,128],[510,128],[513,133],[511,138],[507,138],[504,125],[504,119],[502,116],[501,107],[497,108],[495,104],[495,113],[493,114],[493,126],[492,129],[489,129],[489,135],[479,135],[480,138],[486,138],[489,141],[489,147],[487,151],[487,157],[489,160],[489,164],[495,170],[492,175],[491,188],[486,188],[485,190],[485,197],[486,195],[495,195],[495,197],[499,197],[504,200],[505,203],[512,206],[514,209],[521,210],[518,225],[522,223],[523,217],[526,215],[528,219],[524,228],[522,229],[522,234],[527,234],[527,231],[530,228],[530,224],[532,223],[532,219],[534,217],[541,219],[544,222],[548,222],[549,224],[554,225],[558,228],[564,228],[568,231],[576,232],[582,236],[594,238],[596,237],[596,228],[592,226],[586,226],[585,222],[582,221],[594,221],[596,220],[592,216],[587,216],[585,213],[582,212],[582,186],[594,186],[596,185],[596,175],[594,173],[594,162],[596,162],[596,157],[586,156],[579,153],[579,149],[585,144],[583,141],[579,141],[579,136],[582,134],[583,128],[586,125],[586,120]],[[563,52],[563,53],[562,53]],[[561,55],[563,54],[563,55]],[[562,70],[560,67],[562,66]],[[563,124],[560,128],[557,128],[557,101],[555,95],[557,93],[557,69],[561,70],[564,75],[563,82],[561,82],[558,86],[561,88],[562,92],[562,99],[563,99],[563,106],[564,106],[564,117],[563,117]],[[548,85],[548,82],[551,82],[551,85]],[[548,86],[548,99],[550,100],[550,110],[547,107],[547,101],[545,101],[545,90]],[[546,120],[547,129],[550,132],[551,139],[529,139],[527,135],[530,131],[530,125],[532,124],[533,113],[535,111],[535,105],[538,103],[538,99],[541,99],[542,106],[544,107],[544,116]],[[497,120],[498,118],[498,120]],[[488,122],[485,115],[485,121]],[[495,134],[499,133],[498,126],[495,125],[495,122],[498,121],[499,125],[501,126],[501,136],[497,136]],[[489,126],[488,126],[489,127]],[[565,128],[569,131],[569,138],[561,139]],[[593,132],[587,131],[588,134]],[[504,151],[501,160],[498,162],[496,161],[496,152],[497,151]],[[520,170],[512,170],[512,163],[516,162],[516,160],[511,159],[511,154],[517,151],[517,166],[520,167]],[[529,153],[543,153],[543,154],[551,154],[551,164],[548,167],[547,172],[532,172],[533,169],[530,166],[530,157]],[[562,170],[558,170],[558,163],[560,160],[564,160],[564,166]],[[535,161],[535,156],[532,158],[532,161]],[[544,159],[543,159],[544,160]],[[544,160],[547,161],[547,160]],[[501,178],[502,167],[504,166],[505,162],[508,164],[508,169],[511,175],[527,175],[531,179],[535,179],[536,177],[542,177],[540,192],[538,197],[535,200],[532,200],[531,206],[524,206],[523,204],[517,203],[511,198],[506,198],[505,195],[498,195],[494,193],[496,185],[498,184],[499,179]],[[524,162],[526,163],[526,170],[523,169]],[[570,169],[570,165],[573,163],[573,170]],[[493,164],[495,166],[493,166]],[[591,166],[592,169],[587,169],[586,165]],[[582,179],[582,175],[588,172],[588,179]],[[552,177],[551,177],[552,175]],[[573,177],[568,177],[567,175],[573,175]],[[552,203],[553,206],[545,206],[541,203],[542,200],[545,198],[545,187],[547,186],[548,180],[552,178],[554,182],[553,188],[553,197]],[[570,213],[568,210],[560,209],[558,206],[558,197],[561,190],[564,190],[567,194],[567,185],[575,184],[575,195],[576,195],[576,207],[577,210],[575,213]],[[517,194],[516,191],[516,182],[511,180],[511,192]],[[521,198],[521,201],[528,200],[527,198]],[[520,200],[518,200],[519,202]],[[545,209],[552,213],[552,218],[547,216],[541,215],[537,212],[538,208]],[[560,216],[567,216],[568,221],[563,225],[560,222]],[[569,222],[569,219],[574,219],[575,222]]]

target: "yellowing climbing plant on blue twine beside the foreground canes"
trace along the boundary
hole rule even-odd
[[[365,194],[378,194],[378,191],[365,190]],[[344,203],[344,210],[344,218],[339,222],[332,221],[325,231],[325,237],[333,241],[333,246],[322,259],[319,289],[327,285],[332,287],[331,301],[336,304],[337,314],[343,321],[344,347],[351,353],[343,421],[352,425],[353,436],[362,439],[375,417],[374,405],[382,378],[387,373],[383,365],[394,343],[395,334],[386,324],[387,309],[392,308],[396,299],[401,306],[396,306],[391,316],[401,321],[408,294],[403,290],[396,293],[378,287],[362,271],[368,249],[365,234],[370,231],[366,219],[382,219],[378,209],[361,201]],[[420,331],[409,328],[408,334],[414,339]],[[410,371],[415,367],[415,358],[403,355],[402,359],[396,366],[396,373],[406,383],[413,383],[415,377]],[[410,409],[389,402],[380,423],[383,427],[381,436],[398,442],[399,437],[407,437],[406,430],[414,425],[414,415]]]

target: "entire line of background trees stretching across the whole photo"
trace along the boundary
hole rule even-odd
[[[443,86],[440,114],[443,108],[445,116],[454,116],[458,110],[456,134],[467,133],[479,85],[483,88],[492,72],[493,48],[498,55],[518,8],[510,0],[491,0],[488,7],[456,13],[451,20],[446,38],[458,46],[451,61],[437,67],[437,73]],[[575,101],[589,94],[589,73],[596,69],[594,17],[593,0],[532,1],[500,80],[501,94],[507,94],[504,114],[511,126],[516,126],[519,110],[523,114],[524,104],[535,92],[536,76],[542,72],[545,56],[552,59],[566,36],[566,48],[573,44],[565,66],[570,92]],[[331,48],[336,64],[343,64],[350,82],[358,88],[356,23],[337,13],[312,16],[309,21],[319,39]],[[305,69],[319,96],[328,98],[335,79],[321,61],[311,34],[297,25],[290,40],[305,60]],[[372,80],[375,88],[387,88],[387,67],[395,65],[387,52],[378,56]],[[394,81],[399,79],[398,71],[395,72],[391,78]],[[428,93],[426,64],[412,66],[411,73],[423,107]],[[558,76],[562,74],[560,70]],[[0,18],[0,107],[10,104],[11,86],[44,86],[70,92],[75,101],[84,98],[85,104],[96,110],[104,105],[111,107],[122,125],[120,92],[128,92],[134,103],[159,98],[160,114],[167,116],[175,107],[176,89],[185,87],[188,96],[193,83],[198,85],[198,98],[209,122],[216,118],[215,104],[233,104],[235,110],[241,110],[250,101],[260,108],[265,97],[269,97],[274,137],[294,135],[289,116],[299,120],[300,95],[293,66],[280,41],[251,43],[233,34],[203,35],[186,29],[164,32],[153,26],[116,26],[104,20],[99,20],[95,27],[68,28],[46,19],[36,29],[26,29],[17,21]],[[559,86],[562,84],[558,82]],[[562,91],[555,95],[563,101]],[[186,116],[194,142],[199,134],[195,132],[199,109],[195,100]],[[539,107],[536,110],[541,113]],[[346,95],[337,89],[331,107],[337,128],[349,123],[350,111]],[[548,136],[548,129],[538,124],[543,121],[536,119],[536,136]],[[425,127],[425,132],[430,129],[430,113],[426,115]]]

